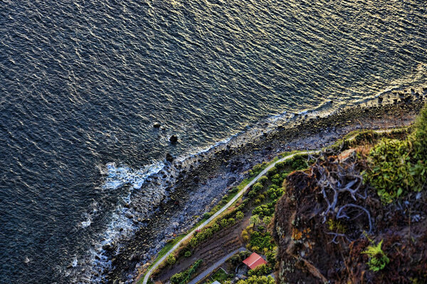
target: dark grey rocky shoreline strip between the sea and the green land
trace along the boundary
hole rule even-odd
[[[259,133],[251,141],[239,136],[184,161],[167,162],[164,170],[148,180],[165,186],[157,197],[159,203],[147,206],[151,211],[149,217],[135,219],[139,229],[126,244],[103,247],[112,268],[105,275],[105,283],[134,283],[141,268],[152,261],[168,240],[198,222],[201,217],[196,216],[214,207],[228,189],[246,178],[253,165],[285,151],[327,146],[353,130],[411,124],[426,98],[426,88],[390,91],[365,106],[325,117],[295,116],[288,124]],[[138,198],[132,200],[132,204],[137,202]]]

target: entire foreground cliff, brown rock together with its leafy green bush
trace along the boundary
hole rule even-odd
[[[401,136],[323,153],[284,182],[278,283],[426,283],[427,111]]]

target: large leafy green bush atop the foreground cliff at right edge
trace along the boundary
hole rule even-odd
[[[377,190],[383,202],[389,203],[408,192],[419,192],[427,180],[427,109],[403,140],[383,138],[372,148],[365,182]]]

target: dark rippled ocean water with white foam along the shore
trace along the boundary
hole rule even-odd
[[[3,0],[0,38],[0,283],[70,283],[166,153],[427,82],[424,0]]]

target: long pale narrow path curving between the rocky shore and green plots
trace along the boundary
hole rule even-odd
[[[297,153],[293,153],[291,155],[287,155],[279,160],[276,160],[274,163],[272,163],[271,165],[269,165],[267,168],[265,168],[265,170],[263,170],[259,175],[257,175],[253,180],[251,180],[251,182],[248,183],[248,185],[246,185],[246,187],[243,187],[243,190],[241,190],[240,192],[237,193],[237,195],[235,197],[233,197],[226,205],[224,205],[224,207],[222,207],[221,209],[218,210],[218,212],[216,212],[214,215],[212,215],[209,219],[207,219],[205,222],[203,222],[202,224],[200,224],[200,226],[198,226],[196,229],[194,229],[193,231],[189,232],[189,234],[187,234],[186,236],[184,236],[183,239],[181,239],[181,241],[177,242],[172,249],[170,249],[162,258],[159,259],[159,261],[157,261],[154,266],[147,271],[147,273],[144,276],[144,280],[142,281],[143,284],[147,284],[148,279],[149,279],[149,275],[151,275],[151,273],[154,271],[154,269],[157,268],[157,266],[159,266],[160,263],[162,263],[174,250],[178,249],[179,245],[183,242],[186,241],[187,239],[191,238],[191,236],[193,236],[194,232],[196,230],[200,230],[202,229],[204,226],[206,226],[207,224],[209,224],[212,220],[214,220],[216,217],[218,217],[219,214],[221,214],[222,212],[224,212],[228,207],[230,207],[239,197],[241,197],[243,195],[243,193],[246,192],[246,190],[248,190],[249,187],[251,187],[253,184],[255,184],[255,182],[258,181],[258,179],[260,177],[262,177],[263,175],[265,175],[265,173],[268,172],[268,170],[270,170],[271,168],[273,168],[275,166],[275,164],[283,162],[284,160],[288,160],[290,158],[293,158],[295,155],[299,155],[299,154],[315,154],[315,153],[320,153],[320,150],[317,151],[305,151],[305,152],[297,152]]]

